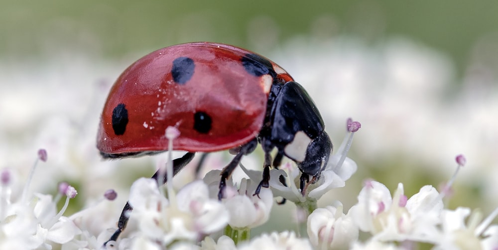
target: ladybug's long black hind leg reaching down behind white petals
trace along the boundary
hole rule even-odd
[[[185,155],[178,159],[173,160],[173,176],[175,176],[180,170],[183,169],[193,158],[194,158],[195,153],[192,152],[187,152]],[[152,179],[157,180],[157,177],[159,175],[159,170],[155,172],[154,175],[152,175]],[[163,183],[166,183],[167,177],[166,174],[164,174],[164,181]],[[124,205],[123,211],[121,212],[120,219],[118,221],[118,229],[114,234],[109,238],[107,242],[104,243],[104,248],[106,248],[107,243],[110,241],[116,241],[118,240],[118,237],[120,237],[120,234],[123,232],[123,230],[126,228],[126,224],[128,223],[129,217],[127,216],[128,211],[133,210],[133,208],[129,205],[129,202],[126,202]]]

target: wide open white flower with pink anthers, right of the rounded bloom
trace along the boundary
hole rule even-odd
[[[380,241],[434,242],[443,209],[441,198],[432,186],[424,186],[407,200],[401,183],[391,197],[383,184],[369,181],[348,214],[360,230]]]

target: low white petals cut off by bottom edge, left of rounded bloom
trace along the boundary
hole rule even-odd
[[[249,243],[242,243],[239,250],[312,250],[308,239],[297,238],[294,232],[262,234]]]

